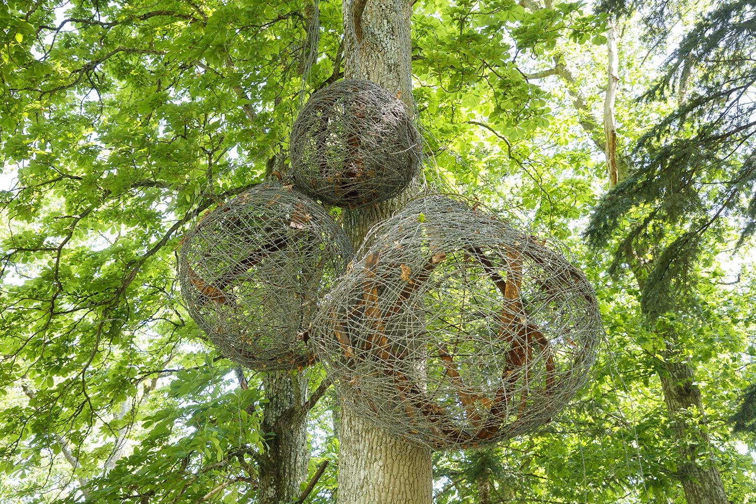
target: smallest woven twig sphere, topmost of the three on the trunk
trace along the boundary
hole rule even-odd
[[[312,94],[297,116],[290,175],[331,205],[378,203],[417,175],[421,146],[401,100],[373,82],[345,79]]]

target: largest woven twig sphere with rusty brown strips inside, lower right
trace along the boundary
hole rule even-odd
[[[445,196],[374,227],[314,322],[314,352],[358,416],[456,450],[534,431],[587,381],[593,288],[546,243]]]

